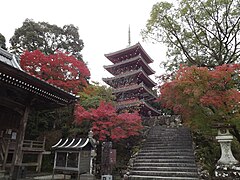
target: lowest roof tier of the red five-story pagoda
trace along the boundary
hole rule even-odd
[[[141,107],[141,111],[145,111],[146,114],[148,114],[148,112],[150,111],[151,115],[153,116],[157,116],[161,114],[157,109],[152,107],[150,104],[148,104],[144,100],[133,99],[131,101],[122,101],[117,104],[118,110],[125,109],[128,107]]]

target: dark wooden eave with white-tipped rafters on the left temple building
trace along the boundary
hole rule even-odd
[[[71,104],[77,97],[41,79],[27,74],[0,61],[0,82],[22,93],[23,96],[34,97],[33,106],[36,109],[60,107]]]

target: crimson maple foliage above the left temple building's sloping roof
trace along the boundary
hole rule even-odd
[[[26,51],[21,55],[20,65],[27,73],[72,93],[86,86],[90,76],[83,61],[60,51],[51,55],[39,50]]]

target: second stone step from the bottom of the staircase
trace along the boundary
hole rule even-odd
[[[164,177],[198,177],[197,172],[182,172],[182,171],[131,171],[130,175],[144,176],[164,176]]]

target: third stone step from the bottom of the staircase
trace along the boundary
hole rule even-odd
[[[135,162],[134,167],[193,167],[196,168],[196,164],[193,163],[177,163],[177,162]]]

